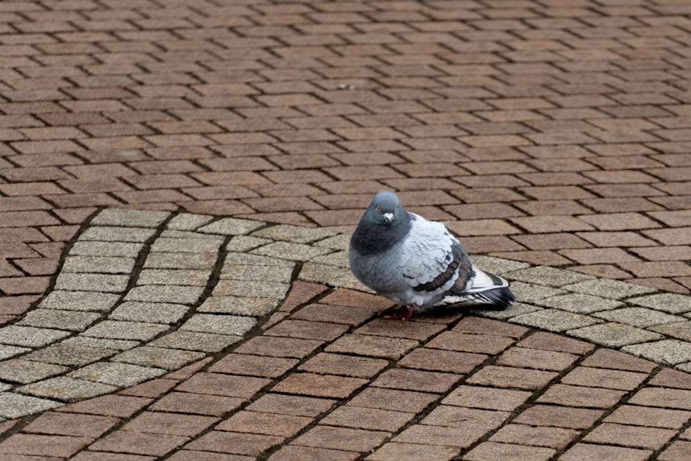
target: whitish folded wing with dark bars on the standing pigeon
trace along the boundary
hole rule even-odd
[[[442,223],[411,215],[408,236],[401,245],[399,269],[413,291],[435,296],[454,284],[467,285],[473,278],[468,255]]]

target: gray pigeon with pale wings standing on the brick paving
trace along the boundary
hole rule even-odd
[[[408,213],[396,194],[376,194],[350,238],[355,278],[397,305],[379,312],[408,320],[445,299],[507,309],[515,301],[509,281],[471,263],[442,223]]]

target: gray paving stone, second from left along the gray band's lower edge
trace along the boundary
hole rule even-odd
[[[66,376],[46,379],[45,381],[27,384],[17,388],[17,392],[55,399],[61,402],[78,402],[79,400],[98,397],[99,395],[110,394],[117,391],[117,387],[109,384],[95,383],[75,379]]]

